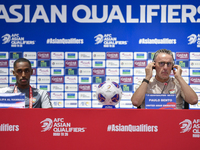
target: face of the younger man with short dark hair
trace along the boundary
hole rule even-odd
[[[13,71],[13,75],[16,76],[18,87],[27,88],[29,87],[30,76],[33,74],[33,70],[28,62],[16,63]]]

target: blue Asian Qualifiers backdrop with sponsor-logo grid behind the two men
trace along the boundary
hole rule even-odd
[[[47,90],[55,108],[100,108],[95,91],[105,80],[123,89],[117,108],[134,108],[146,65],[166,48],[198,94],[190,109],[200,108],[197,0],[3,0],[0,27],[0,87],[16,82],[13,62],[24,57],[34,69],[31,85]]]

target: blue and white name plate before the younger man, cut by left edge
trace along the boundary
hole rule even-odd
[[[25,94],[0,93],[0,108],[25,108]]]

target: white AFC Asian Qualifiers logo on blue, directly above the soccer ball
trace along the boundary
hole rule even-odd
[[[98,34],[95,37],[95,45],[103,43],[103,47],[115,47],[116,45],[127,45],[128,41],[118,41],[112,34]]]

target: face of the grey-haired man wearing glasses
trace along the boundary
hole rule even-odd
[[[166,82],[173,66],[173,58],[169,54],[160,53],[155,60],[156,79],[160,82]]]

